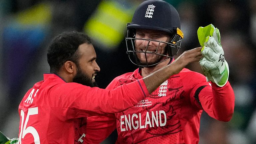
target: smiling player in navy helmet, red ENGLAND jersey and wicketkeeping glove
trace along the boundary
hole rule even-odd
[[[162,0],[141,3],[127,29],[127,54],[139,68],[116,77],[107,89],[172,64],[183,38],[178,12]],[[118,144],[198,144],[203,110],[217,120],[229,121],[234,92],[228,82],[219,30],[213,25],[200,27],[198,38],[204,46],[199,64],[206,77],[184,68],[134,107],[108,117],[89,117],[85,141],[99,143],[117,128]]]

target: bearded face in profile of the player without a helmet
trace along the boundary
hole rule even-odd
[[[80,59],[78,61],[77,73],[73,78],[73,82],[86,86],[97,86],[95,75],[100,71],[100,67],[96,63],[96,53],[92,44],[81,44],[78,48]]]

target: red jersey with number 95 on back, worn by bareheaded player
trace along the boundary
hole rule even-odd
[[[19,105],[19,144],[84,143],[88,116],[119,112],[147,95],[142,79],[105,90],[44,74]]]

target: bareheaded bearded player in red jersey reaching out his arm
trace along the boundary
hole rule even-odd
[[[19,105],[19,144],[81,144],[87,117],[120,112],[148,96],[188,63],[199,61],[202,47],[183,53],[172,66],[111,90],[96,86],[100,71],[91,39],[64,32],[49,46],[49,74],[25,94]],[[159,75],[161,75],[159,77]]]

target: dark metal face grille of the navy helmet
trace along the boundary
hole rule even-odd
[[[158,41],[158,40],[152,40],[152,39],[143,39],[143,38],[135,38],[135,30],[131,30],[129,31],[128,29],[128,36],[125,39],[126,40],[126,48],[127,48],[127,54],[129,56],[130,61],[139,66],[139,67],[154,67],[157,64],[166,61],[169,58],[174,57],[179,49],[180,49],[180,45],[181,45],[181,39],[183,38],[183,34],[182,32],[179,30],[179,28],[177,28],[177,31],[179,31],[178,33],[176,32],[172,38],[171,41],[169,42],[164,42],[164,41]],[[138,51],[135,48],[135,41],[136,40],[145,40],[148,41],[147,42],[147,46],[145,51]],[[147,52],[148,46],[150,42],[158,42],[158,46],[156,48],[155,52]],[[158,52],[158,48],[161,44],[166,44],[165,46],[165,53],[161,54],[161,53],[157,53]],[[145,55],[145,61],[146,63],[141,63],[141,61],[138,58],[138,54],[143,53]],[[156,54],[156,55],[160,55],[163,58],[159,61],[156,61],[155,63],[149,63],[148,62],[148,58],[147,58],[147,54]]]

